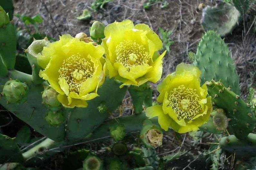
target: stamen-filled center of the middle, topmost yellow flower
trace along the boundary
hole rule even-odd
[[[132,40],[123,40],[115,49],[116,62],[130,71],[134,66],[148,64],[151,60],[149,52],[146,49]]]

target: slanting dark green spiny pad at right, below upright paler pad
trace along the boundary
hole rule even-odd
[[[212,96],[214,106],[222,108],[229,119],[228,132],[235,134],[238,139],[245,139],[253,130],[256,123],[255,115],[251,113],[250,106],[239,95],[221,82],[206,82],[208,94]]]

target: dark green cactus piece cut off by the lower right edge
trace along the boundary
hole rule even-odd
[[[235,135],[223,137],[219,142],[220,148],[235,153],[236,157],[256,156],[256,134],[250,133],[245,140],[239,140]]]

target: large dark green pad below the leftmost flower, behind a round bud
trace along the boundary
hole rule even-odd
[[[47,86],[47,84],[34,85],[31,81],[31,75],[18,71],[9,71],[9,73],[13,79],[19,78],[21,82],[27,84],[29,88],[27,101],[25,103],[7,104],[5,97],[0,97],[0,104],[44,136],[55,141],[64,140],[64,125],[60,125],[59,127],[50,126],[45,120],[47,108],[42,104],[41,92],[44,91],[44,86]],[[3,91],[1,85],[4,85],[8,80],[8,77],[0,78],[0,92]]]

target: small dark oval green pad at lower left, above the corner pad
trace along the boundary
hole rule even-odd
[[[25,143],[28,143],[31,138],[31,131],[28,125],[24,125],[17,133],[15,141],[19,145],[23,145]]]

